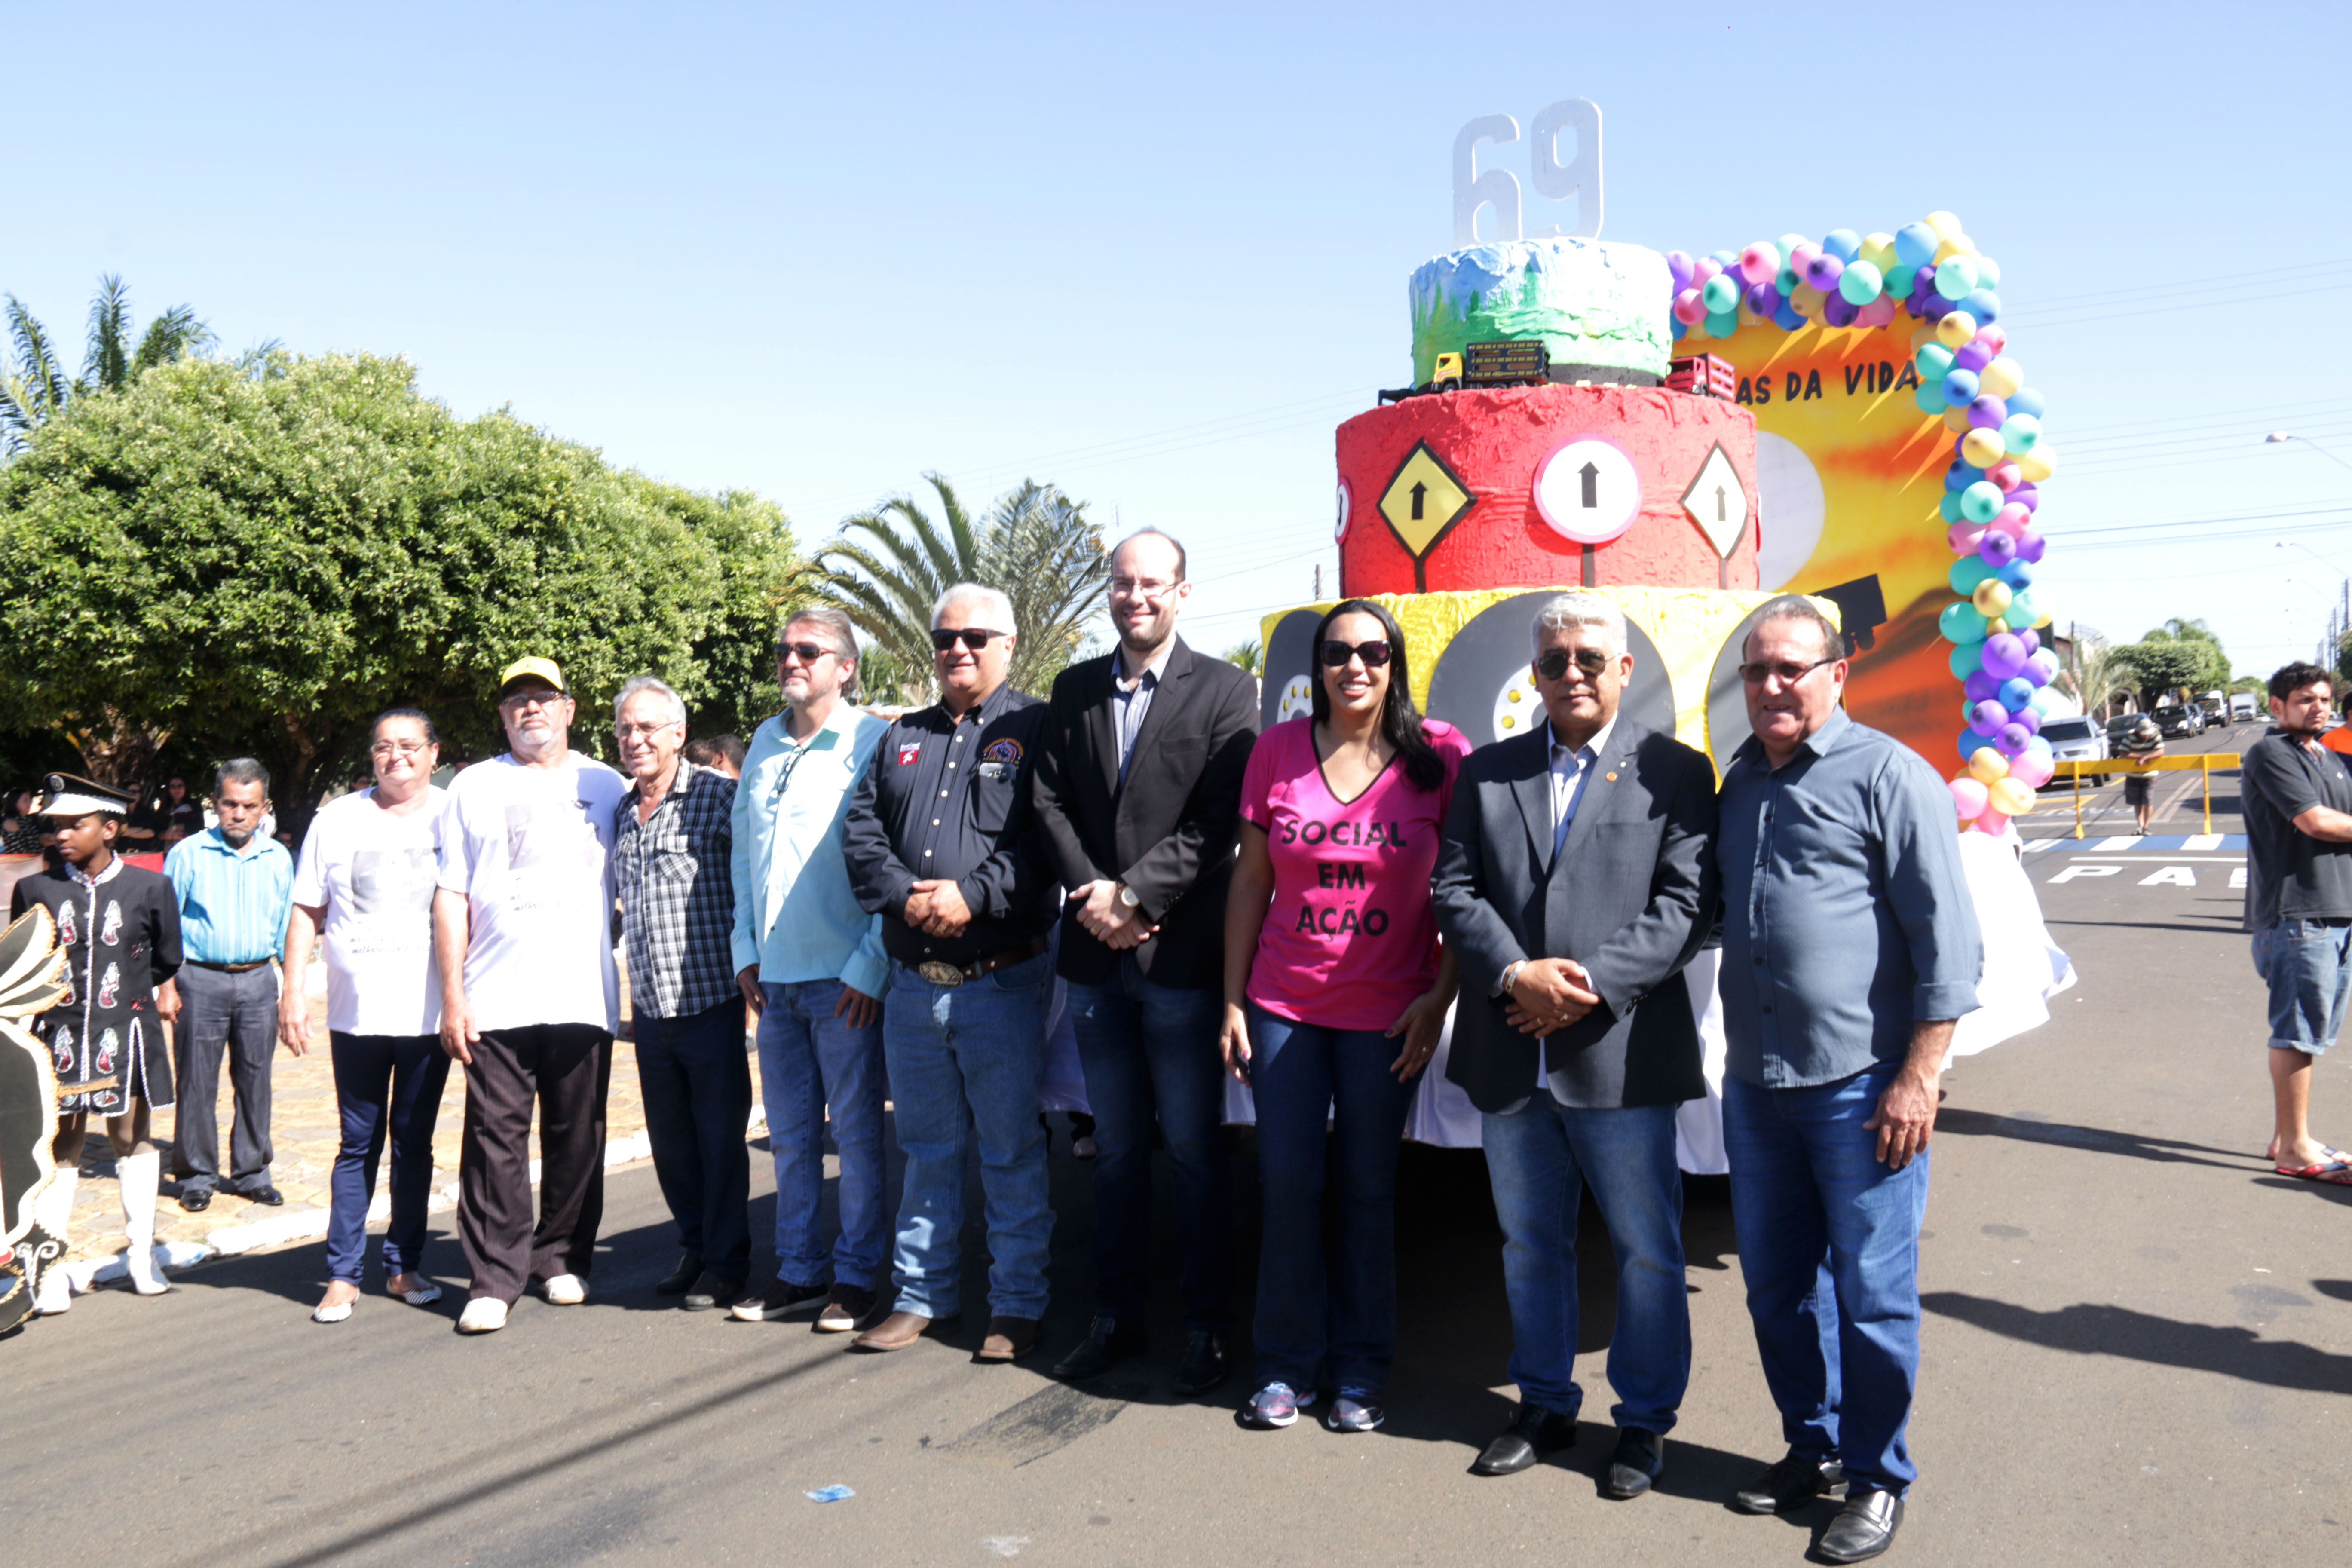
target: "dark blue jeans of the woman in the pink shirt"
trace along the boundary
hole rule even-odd
[[[1378,1392],[1397,1354],[1397,1147],[1414,1084],[1397,1041],[1249,1006],[1258,1098],[1258,1387]],[[1327,1133],[1329,1124],[1329,1133]],[[1338,1140],[1338,1237],[1324,1265],[1324,1143]],[[1336,1274],[1336,1276],[1334,1276]]]

